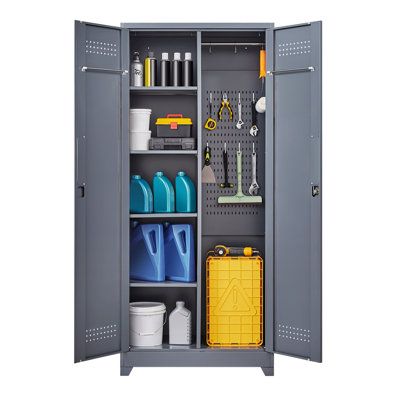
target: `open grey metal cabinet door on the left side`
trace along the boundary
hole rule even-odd
[[[129,345],[128,36],[75,22],[75,362]]]

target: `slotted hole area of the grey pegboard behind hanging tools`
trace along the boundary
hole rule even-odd
[[[237,169],[236,169],[236,151],[240,143],[242,151],[242,190],[249,195],[248,189],[251,184],[251,153],[253,151],[253,142],[257,153],[257,170],[260,168],[260,148],[259,136],[251,136],[251,102],[252,90],[225,90],[213,91],[207,90],[203,100],[203,110],[206,116],[209,116],[209,98],[212,93],[212,116],[217,121],[217,128],[213,131],[206,131],[203,137],[204,145],[208,142],[211,147],[211,166],[213,168],[217,185],[204,184],[203,196],[205,196],[205,214],[206,215],[259,215],[260,205],[257,204],[218,204],[219,196],[231,196],[237,191]],[[244,125],[242,129],[236,128],[238,121],[238,94],[240,92],[240,101],[242,104],[242,120]],[[218,119],[218,111],[221,105],[223,93],[226,93],[233,110],[233,120],[229,120],[229,113],[226,109],[222,112],[222,120]],[[255,99],[259,97],[258,91],[254,91]],[[260,118],[258,116],[258,118]],[[259,133],[259,135],[264,133]],[[222,152],[224,143],[228,150],[228,180],[234,183],[232,189],[222,189],[219,184],[224,182],[224,167]],[[258,177],[258,179],[260,179]]]

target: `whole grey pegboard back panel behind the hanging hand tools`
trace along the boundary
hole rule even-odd
[[[203,129],[203,150],[206,143],[211,148],[211,166],[216,184],[202,184],[203,234],[213,235],[263,235],[264,234],[264,203],[263,204],[218,204],[219,196],[230,196],[237,192],[236,152],[240,143],[242,151],[242,190],[250,195],[251,184],[251,154],[253,143],[257,153],[257,182],[259,194],[264,200],[264,165],[265,165],[265,114],[257,114],[258,135],[250,135],[252,125],[251,102],[254,92],[255,99],[260,97],[260,81],[253,71],[209,71],[210,80],[203,84],[202,110],[203,120],[209,116],[209,96],[212,93],[212,116],[217,120],[217,128],[213,131]],[[215,79],[217,75],[217,79]],[[224,75],[221,79],[218,76]],[[212,77],[212,78],[211,78]],[[245,79],[243,79],[245,77]],[[246,79],[247,78],[247,79]],[[247,83],[247,84],[246,84]],[[238,96],[240,92],[242,104],[241,129],[236,127],[238,121]],[[218,111],[223,94],[226,93],[233,110],[233,119],[224,109],[222,119],[218,119]],[[228,180],[233,188],[221,188],[224,182],[223,150],[224,143],[228,150]]]

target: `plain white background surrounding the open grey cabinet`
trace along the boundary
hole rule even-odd
[[[399,374],[399,12],[391,1],[17,1],[1,11],[3,398],[394,398]],[[235,3],[235,5],[234,5]],[[74,19],[323,20],[323,364],[73,364]],[[4,395],[5,391],[8,391]],[[397,393],[397,395],[396,395]]]

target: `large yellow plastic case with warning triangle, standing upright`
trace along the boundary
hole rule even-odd
[[[209,256],[206,308],[209,346],[260,346],[263,343],[262,258]]]

